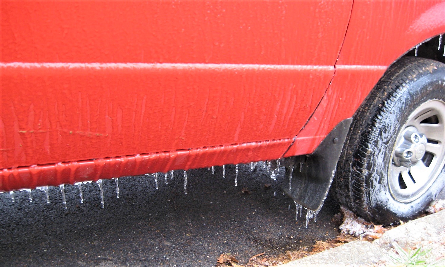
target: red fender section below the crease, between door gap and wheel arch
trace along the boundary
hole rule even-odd
[[[352,117],[386,68],[337,65],[326,95],[284,157],[314,152],[340,121]]]

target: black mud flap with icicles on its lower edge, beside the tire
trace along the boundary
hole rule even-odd
[[[328,195],[352,118],[341,121],[310,155],[283,159],[289,183],[284,192],[297,204],[318,211]]]

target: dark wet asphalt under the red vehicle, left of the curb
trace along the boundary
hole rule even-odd
[[[43,191],[0,194],[1,266],[215,266],[220,254],[240,263],[266,255],[311,246],[338,234],[332,221],[339,212],[328,197],[317,222],[305,228],[304,214],[295,222],[295,205],[282,195],[284,168],[277,182],[265,169],[240,165],[183,172],[165,183],[159,176],[104,180],[105,208],[99,186],[85,184],[84,203],[77,186],[65,186],[67,209],[58,187]],[[265,186],[265,185],[271,186]],[[276,195],[274,196],[274,191]],[[288,207],[290,205],[290,210]]]

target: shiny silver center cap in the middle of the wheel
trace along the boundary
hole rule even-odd
[[[427,139],[425,134],[419,133],[416,127],[409,126],[399,135],[400,141],[394,150],[392,161],[396,166],[410,168],[423,158]]]

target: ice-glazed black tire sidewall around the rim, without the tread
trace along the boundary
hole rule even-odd
[[[409,220],[419,215],[436,198],[445,185],[444,170],[419,198],[411,202],[399,202],[392,197],[388,185],[388,168],[396,139],[405,127],[408,117],[426,101],[439,99],[445,102],[445,70],[422,73],[406,83],[383,103],[386,111],[376,113],[368,129],[377,134],[370,150],[368,175],[365,178],[368,213],[380,223]]]

